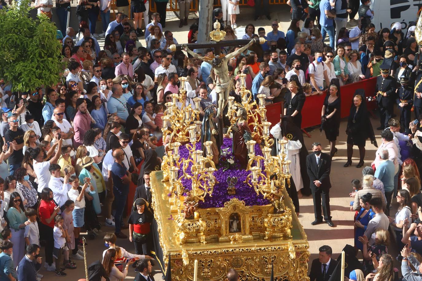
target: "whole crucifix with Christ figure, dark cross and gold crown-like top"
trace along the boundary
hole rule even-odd
[[[216,94],[218,100],[218,108],[217,108],[217,126],[219,128],[219,138],[220,143],[223,143],[223,110],[227,106],[228,97],[230,93],[230,85],[232,83],[231,78],[228,75],[228,66],[227,62],[241,54],[245,51],[249,46],[254,43],[265,43],[264,38],[258,39],[242,39],[242,40],[227,40],[221,41],[225,37],[225,32],[219,30],[219,22],[216,21],[214,23],[214,28],[216,30],[210,32],[211,39],[214,42],[205,42],[205,43],[191,43],[191,44],[179,44],[179,45],[172,45],[170,46],[171,51],[182,50],[186,51],[188,54],[192,55],[193,57],[200,59],[203,63],[210,63],[213,66],[214,73],[216,75]],[[224,55],[221,53],[221,48],[226,46],[239,46],[244,45],[242,48],[234,51],[230,54]],[[208,57],[208,56],[200,56],[193,51],[192,49],[200,49],[200,48],[214,48],[214,54],[216,56]]]

